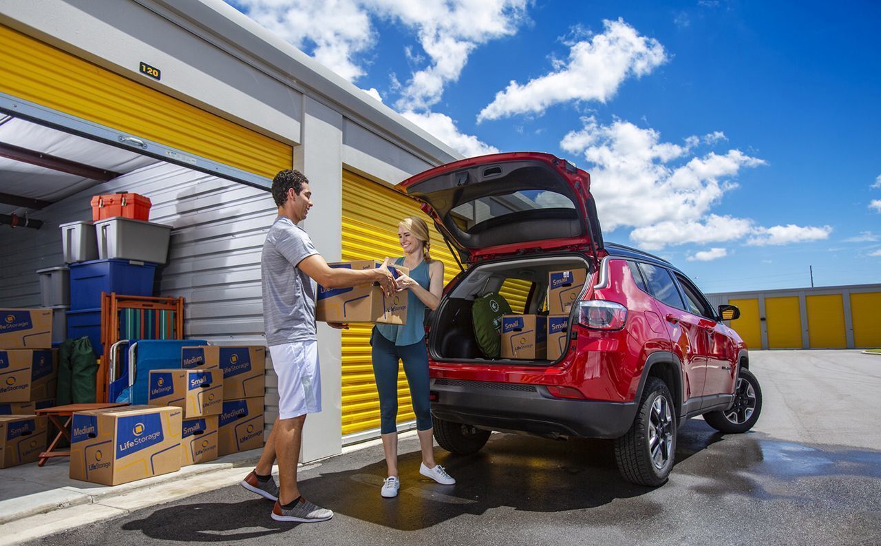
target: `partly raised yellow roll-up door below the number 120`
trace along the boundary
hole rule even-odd
[[[0,25],[0,92],[272,178],[292,147]]]

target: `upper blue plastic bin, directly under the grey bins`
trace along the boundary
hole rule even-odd
[[[101,306],[101,292],[152,296],[155,263],[132,260],[93,260],[70,264],[70,310]]]

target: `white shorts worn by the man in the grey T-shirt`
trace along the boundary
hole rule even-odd
[[[322,410],[322,373],[318,342],[292,342],[270,347],[278,375],[278,418],[291,419]]]

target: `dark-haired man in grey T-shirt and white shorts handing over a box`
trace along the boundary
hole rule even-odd
[[[306,177],[285,169],[272,181],[278,218],[263,243],[263,320],[272,367],[278,374],[278,418],[257,466],[241,485],[276,501],[272,519],[313,522],[329,520],[333,512],[300,495],[297,462],[303,424],[309,413],[322,410],[322,385],[315,337],[315,284],[346,288],[377,282],[388,294],[396,283],[388,259],[377,269],[356,271],[330,268],[299,225],[312,208]],[[344,328],[342,324],[330,324]],[[272,465],[278,457],[278,486]]]

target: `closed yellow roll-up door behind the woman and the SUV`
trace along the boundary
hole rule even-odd
[[[397,242],[397,223],[405,217],[418,216],[429,225],[431,255],[444,264],[444,284],[459,272],[441,234],[418,203],[394,189],[350,171],[343,171],[343,260],[373,260],[402,255]],[[529,284],[506,283],[502,293],[512,307],[524,306]],[[365,432],[380,426],[379,395],[376,394],[374,369],[370,359],[368,324],[352,324],[343,331],[343,435]],[[410,389],[398,373],[399,423],[416,418],[410,401]]]

